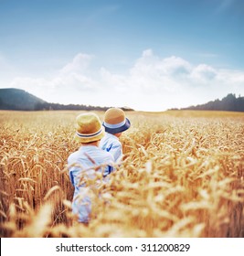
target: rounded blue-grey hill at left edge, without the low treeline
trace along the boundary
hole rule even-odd
[[[0,89],[1,110],[34,111],[37,104],[45,103],[47,102],[24,90],[14,88]]]

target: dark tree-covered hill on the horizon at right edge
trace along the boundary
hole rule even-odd
[[[221,101],[208,101],[202,105],[190,106],[182,110],[206,110],[206,111],[229,111],[244,112],[244,97],[236,97],[235,94],[229,93]]]

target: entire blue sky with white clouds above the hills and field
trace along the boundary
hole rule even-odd
[[[243,0],[0,0],[0,88],[160,112],[244,96]]]

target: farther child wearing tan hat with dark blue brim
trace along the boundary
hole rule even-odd
[[[122,132],[131,126],[130,120],[125,117],[125,113],[119,108],[110,108],[104,114],[105,136],[101,139],[100,148],[110,152],[114,162],[119,164],[122,161],[122,144],[120,136]]]

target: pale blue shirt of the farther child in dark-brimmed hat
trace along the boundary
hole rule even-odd
[[[115,163],[121,163],[122,144],[118,137],[111,133],[105,133],[105,136],[101,139],[100,148],[104,151],[110,152]]]

